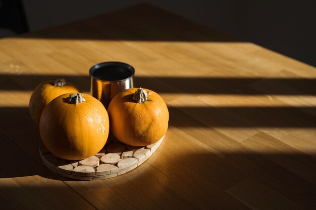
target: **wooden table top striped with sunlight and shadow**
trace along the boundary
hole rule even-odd
[[[76,181],[43,165],[28,112],[37,84],[136,69],[165,99],[166,139],[116,178]],[[315,209],[316,69],[149,5],[0,40],[2,209]]]

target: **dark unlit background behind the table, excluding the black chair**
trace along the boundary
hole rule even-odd
[[[253,42],[316,66],[315,0],[22,0],[22,2],[30,31],[145,2],[241,41]],[[11,33],[0,31],[0,36],[6,35]]]

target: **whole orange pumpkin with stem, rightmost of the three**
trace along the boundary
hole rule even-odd
[[[112,133],[127,145],[153,144],[168,129],[167,105],[160,95],[148,89],[131,88],[117,94],[108,113]]]

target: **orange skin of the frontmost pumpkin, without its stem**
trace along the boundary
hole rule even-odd
[[[66,102],[64,94],[43,110],[39,131],[45,147],[66,160],[81,160],[99,152],[109,135],[109,115],[97,99],[82,94],[86,101]]]

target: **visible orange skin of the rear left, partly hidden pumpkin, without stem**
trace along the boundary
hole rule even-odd
[[[29,102],[29,111],[34,122],[39,123],[40,115],[45,106],[56,97],[65,93],[81,92],[80,89],[71,83],[67,83],[64,87],[55,87],[54,81],[45,81],[39,84]]]

